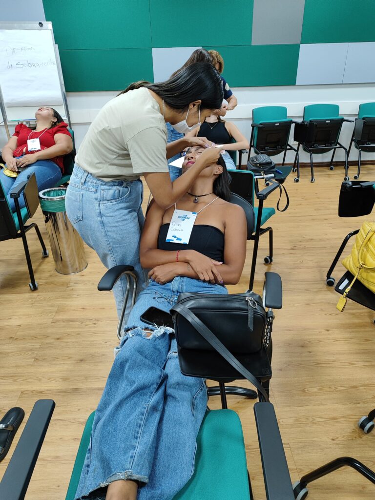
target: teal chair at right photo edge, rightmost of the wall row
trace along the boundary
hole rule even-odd
[[[354,130],[350,139],[347,154],[350,154],[351,145],[358,149],[358,170],[354,179],[360,174],[360,155],[362,151],[375,151],[375,102],[365,102],[359,105],[358,117],[354,121]]]

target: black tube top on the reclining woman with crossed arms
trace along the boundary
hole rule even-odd
[[[224,234],[213,225],[193,225],[190,240],[187,245],[180,243],[168,243],[165,241],[169,229],[168,224],[162,224],[157,238],[159,250],[196,250],[213,260],[223,262],[224,260]]]

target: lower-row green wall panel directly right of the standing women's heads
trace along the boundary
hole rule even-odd
[[[299,44],[204,47],[219,50],[231,87],[295,85]]]

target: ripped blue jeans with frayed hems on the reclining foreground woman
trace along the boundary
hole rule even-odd
[[[110,482],[132,479],[141,485],[137,500],[170,500],[191,477],[205,382],[180,372],[171,328],[140,320],[151,306],[169,311],[182,292],[227,290],[177,276],[164,285],[150,280],[139,293],[95,412],[75,498],[104,500]]]

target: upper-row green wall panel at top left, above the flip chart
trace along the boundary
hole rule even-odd
[[[148,0],[43,0],[58,48],[151,46]]]

